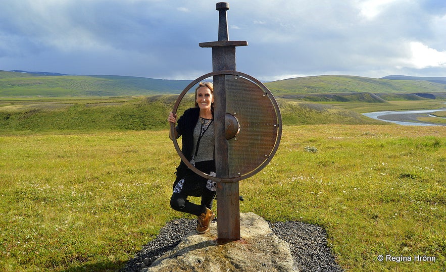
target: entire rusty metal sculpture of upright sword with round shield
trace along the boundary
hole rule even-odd
[[[257,79],[235,71],[235,47],[246,41],[230,41],[226,11],[229,4],[217,3],[218,41],[202,42],[212,48],[212,73],[192,81],[178,96],[172,112],[176,114],[185,94],[200,81],[213,77],[216,176],[196,169],[181,152],[183,162],[196,174],[217,182],[218,240],[240,240],[238,181],[262,170],[272,159],[282,134],[279,106],[268,88]],[[240,101],[242,97],[242,101]],[[171,123],[173,133],[175,125]]]

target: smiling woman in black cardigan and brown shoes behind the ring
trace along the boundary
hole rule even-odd
[[[176,123],[177,116],[170,113],[167,121]],[[198,170],[215,176],[214,153],[214,85],[200,82],[195,89],[195,107],[191,107],[178,119],[173,139],[182,136],[181,152]],[[170,206],[174,210],[197,216],[196,231],[205,233],[214,219],[212,202],[215,197],[215,182],[201,177],[190,170],[183,161],[176,169],[176,180]],[[201,196],[201,205],[187,200],[188,196]]]

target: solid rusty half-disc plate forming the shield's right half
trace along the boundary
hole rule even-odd
[[[270,91],[242,73],[226,75],[226,110],[240,122],[229,141],[229,176],[242,179],[262,170],[274,156],[281,138],[279,106]],[[263,87],[262,87],[263,86]]]

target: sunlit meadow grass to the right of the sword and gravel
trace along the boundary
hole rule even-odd
[[[446,249],[445,132],[442,127],[293,127],[264,175],[243,182],[241,191],[252,192],[252,198],[245,197],[250,209],[270,220],[325,227],[345,269],[437,270],[444,266]],[[307,152],[309,144],[318,151]],[[271,197],[259,197],[266,195]],[[379,262],[379,254],[431,255],[437,261]]]

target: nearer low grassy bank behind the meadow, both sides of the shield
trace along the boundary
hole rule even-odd
[[[176,95],[0,102],[0,133],[168,129]],[[284,125],[379,124],[341,107],[278,98]],[[193,104],[186,96],[178,113]]]

